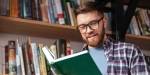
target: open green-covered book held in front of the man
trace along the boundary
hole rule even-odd
[[[53,59],[47,47],[43,47],[47,60],[61,75],[102,75],[88,51]]]

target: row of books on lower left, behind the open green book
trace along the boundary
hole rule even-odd
[[[43,54],[43,47],[53,54],[53,59],[73,54],[69,42],[58,39],[53,45],[31,43],[30,39],[22,45],[18,41],[8,41],[5,46],[5,65],[3,75],[55,75]]]

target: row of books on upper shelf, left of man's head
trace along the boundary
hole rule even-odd
[[[0,15],[75,26],[74,11],[86,1],[88,0],[0,0]]]

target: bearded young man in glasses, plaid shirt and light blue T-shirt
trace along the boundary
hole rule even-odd
[[[143,53],[134,44],[106,37],[107,20],[95,2],[77,9],[77,28],[104,75],[150,75]]]

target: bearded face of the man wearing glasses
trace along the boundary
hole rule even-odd
[[[106,20],[103,17],[96,11],[77,15],[78,29],[81,36],[91,47],[97,47],[103,43],[106,27]]]

